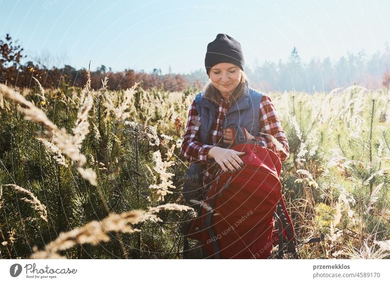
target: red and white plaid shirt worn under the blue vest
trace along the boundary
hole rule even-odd
[[[211,140],[209,138],[209,144],[203,144],[199,139],[199,124],[200,119],[195,106],[195,100],[191,103],[190,111],[188,113],[187,127],[184,132],[183,141],[181,144],[181,155],[184,156],[187,161],[191,163],[204,163],[206,168],[203,171],[203,185],[207,186],[214,179],[215,172],[219,169],[219,165],[216,162],[207,162],[207,154],[210,148],[213,146],[221,145],[223,142],[223,128],[222,118],[229,110],[229,103],[223,98],[220,98],[219,107],[216,110],[214,123],[211,128]],[[272,104],[271,98],[265,94],[261,99],[260,109],[260,125],[262,126],[261,132],[272,135],[277,141],[279,141],[284,147],[285,152],[277,150],[275,145],[271,141],[270,137],[266,136],[254,136],[256,140],[262,141],[266,144],[266,147],[277,153],[281,161],[289,158],[289,143],[286,135],[282,129],[279,118],[277,117],[275,107]],[[287,154],[286,154],[287,153]]]

